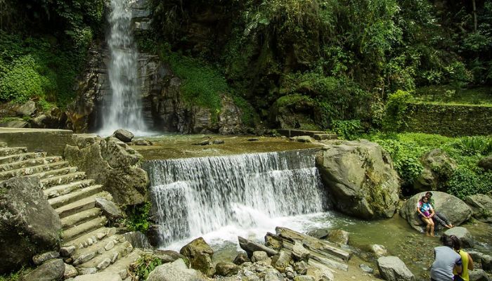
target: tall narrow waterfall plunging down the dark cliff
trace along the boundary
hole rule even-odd
[[[123,128],[133,132],[145,131],[141,97],[137,91],[138,52],[134,44],[129,0],[111,0],[108,17],[110,33],[108,73],[112,96],[105,97],[102,135]]]

